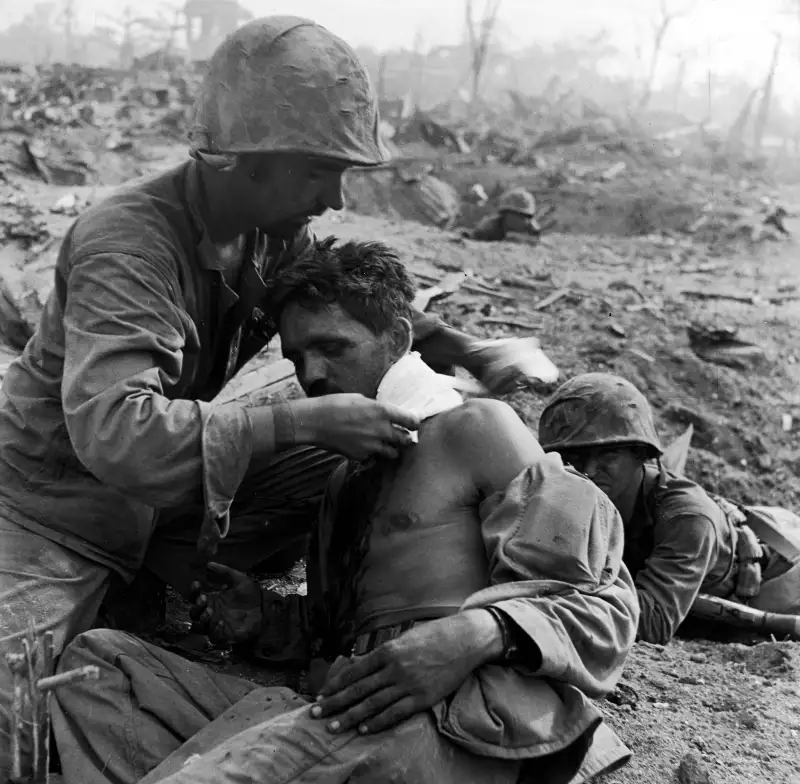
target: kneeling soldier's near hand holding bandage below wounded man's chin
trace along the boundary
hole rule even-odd
[[[307,434],[306,443],[352,460],[397,458],[414,443],[407,431],[419,428],[414,414],[363,395],[324,395],[292,405],[296,431]]]

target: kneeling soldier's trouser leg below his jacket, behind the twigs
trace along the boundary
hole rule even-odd
[[[11,769],[12,676],[5,654],[22,650],[29,623],[39,634],[52,631],[54,651],[61,653],[92,627],[108,578],[105,567],[0,517],[0,781]],[[30,759],[29,740],[22,738],[23,760]]]

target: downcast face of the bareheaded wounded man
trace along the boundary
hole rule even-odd
[[[309,397],[356,392],[374,398],[397,359],[388,333],[375,335],[339,305],[310,310],[293,302],[280,319],[283,356]]]

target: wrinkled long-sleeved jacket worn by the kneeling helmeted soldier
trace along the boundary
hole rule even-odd
[[[128,578],[156,510],[230,507],[250,422],[240,405],[209,401],[271,337],[263,253],[311,240],[248,238],[237,295],[203,229],[197,166],[121,188],[78,218],[0,393],[0,504]],[[432,363],[457,362],[469,341],[423,314],[414,326]]]

